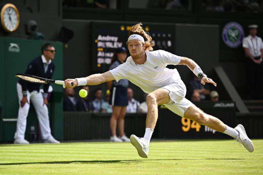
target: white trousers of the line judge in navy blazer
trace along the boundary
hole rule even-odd
[[[20,101],[23,98],[22,94],[22,86],[17,83],[17,94],[18,94],[18,103],[19,103],[19,110],[18,110],[18,118],[16,124],[16,132],[15,132],[15,139],[25,139],[25,129],[27,125],[27,114],[29,111],[30,104],[26,103],[23,108],[21,107]],[[46,105],[44,104],[44,99],[41,92],[33,91],[29,92],[27,90],[27,101],[33,103],[36,113],[37,119],[39,122],[41,136],[42,139],[45,140],[49,136],[51,136],[51,129],[49,126],[49,112]]]

